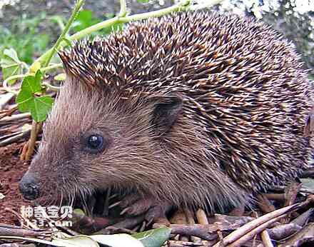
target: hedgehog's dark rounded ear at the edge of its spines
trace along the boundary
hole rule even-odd
[[[182,99],[178,96],[158,98],[153,109],[153,126],[158,136],[166,133],[178,119],[183,106]]]

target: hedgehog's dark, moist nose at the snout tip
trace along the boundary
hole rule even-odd
[[[26,172],[19,182],[19,190],[27,200],[34,200],[39,197],[39,185],[29,172]]]

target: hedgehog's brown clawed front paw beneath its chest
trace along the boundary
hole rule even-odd
[[[166,213],[171,209],[171,204],[167,202],[156,201],[153,196],[141,197],[136,194],[131,194],[123,198],[120,203],[121,215],[138,216],[145,215],[145,220],[148,223],[160,222],[168,224],[166,221]]]

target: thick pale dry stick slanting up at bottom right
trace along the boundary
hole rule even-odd
[[[239,238],[241,238],[242,236],[244,236],[246,233],[252,231],[254,228],[262,225],[263,223],[272,221],[273,218],[278,218],[278,216],[282,216],[283,214],[288,213],[288,212],[290,213],[291,211],[294,211],[298,208],[300,208],[300,203],[295,203],[292,206],[280,208],[273,212],[267,213],[264,216],[261,216],[260,218],[256,218],[255,220],[250,221],[249,223],[246,223],[244,226],[241,226],[240,228],[238,228],[238,230],[230,233],[228,236],[226,236],[226,238],[223,238],[223,241],[219,241],[218,243],[216,243],[214,247],[219,247],[221,243],[224,243],[226,245],[229,243],[233,243],[237,241]]]

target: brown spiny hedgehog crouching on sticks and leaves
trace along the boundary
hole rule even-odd
[[[73,202],[111,188],[129,215],[213,211],[308,168],[307,74],[265,24],[183,12],[78,41],[60,57],[67,79],[19,184],[25,198]]]

